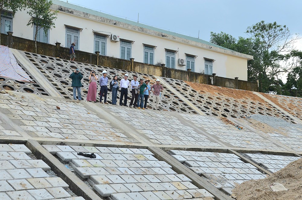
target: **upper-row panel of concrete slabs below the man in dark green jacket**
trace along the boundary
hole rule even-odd
[[[17,121],[23,131],[32,137],[130,142],[127,136],[114,129],[109,121],[99,118],[93,111],[76,102],[50,98],[22,98],[8,94],[1,96],[5,97],[8,100],[7,105],[11,106],[9,109],[3,108],[4,113],[8,113],[8,118]],[[17,102],[23,102],[25,105],[14,106]],[[16,116],[20,116],[21,120],[14,119]],[[131,139],[131,142],[135,140]]]

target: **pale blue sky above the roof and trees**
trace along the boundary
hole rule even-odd
[[[247,27],[264,20],[286,25],[302,37],[301,0],[61,0],[153,27],[210,41],[210,32],[249,37]],[[139,18],[138,18],[139,15]],[[295,44],[302,50],[302,39]],[[286,78],[282,78],[286,80]]]

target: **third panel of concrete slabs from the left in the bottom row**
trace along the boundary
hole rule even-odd
[[[180,161],[198,175],[202,175],[217,188],[234,188],[251,179],[264,179],[258,169],[250,163],[244,163],[232,153],[198,152],[186,150],[169,150],[170,155],[181,155],[186,160]],[[250,154],[248,154],[250,155]],[[257,154],[256,154],[257,155]],[[175,157],[177,160],[178,157]],[[191,188],[194,189],[194,188]]]

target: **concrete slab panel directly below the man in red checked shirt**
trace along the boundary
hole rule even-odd
[[[166,111],[141,111],[134,108],[104,106],[112,115],[118,116],[131,125],[133,129],[146,135],[155,144],[221,146],[204,134],[194,131],[191,126],[183,124],[178,118]],[[130,116],[135,113],[135,118]],[[124,115],[128,117],[124,117]],[[175,114],[178,115],[178,114]],[[156,124],[150,126],[149,124]]]

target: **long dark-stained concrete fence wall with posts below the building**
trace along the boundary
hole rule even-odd
[[[8,34],[1,34],[1,44],[22,51],[32,53],[35,52],[35,44],[33,40],[15,37],[12,35],[12,32],[8,32]],[[37,42],[37,53],[45,56],[59,57],[62,59],[69,60],[69,48],[61,47],[60,43],[52,45]],[[162,66],[157,66],[139,63],[135,62],[134,58],[131,58],[130,60],[124,60],[109,56],[101,56],[99,55],[99,52],[88,53],[76,50],[76,56],[76,61],[82,63],[90,63],[94,65],[134,71],[154,76],[162,76],[166,78],[258,92],[258,83],[238,80],[238,78],[229,79],[224,77],[218,77],[216,76],[216,74],[206,75],[179,69],[171,69],[165,67],[164,64],[162,64]]]

